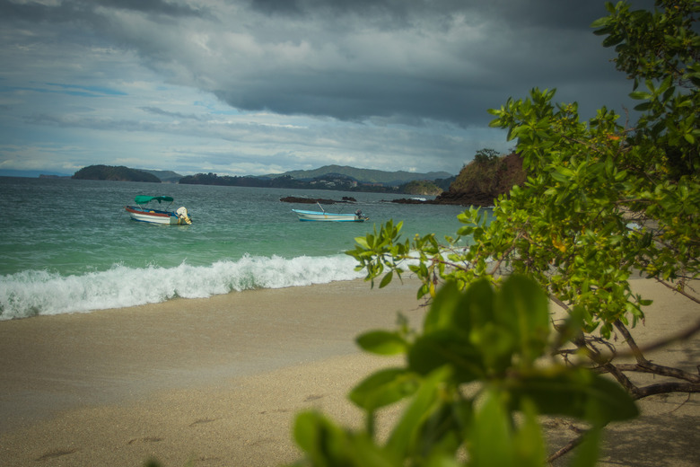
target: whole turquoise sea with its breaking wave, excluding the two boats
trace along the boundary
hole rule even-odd
[[[151,225],[124,207],[169,195],[192,225]],[[287,196],[357,199],[364,223],[300,222]],[[0,320],[200,298],[253,288],[363,278],[345,251],[389,219],[402,238],[454,235],[454,206],[402,205],[406,195],[0,177]],[[369,285],[368,285],[369,288]]]

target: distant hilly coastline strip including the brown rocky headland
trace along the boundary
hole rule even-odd
[[[447,172],[382,172],[349,166],[327,165],[311,171],[292,171],[263,176],[230,176],[215,173],[180,175],[171,171],[134,169],[125,166],[90,165],[74,175],[39,171],[0,171],[0,176],[71,178],[96,181],[149,181],[188,185],[216,185],[275,189],[326,189],[411,195],[394,200],[404,204],[438,204],[492,207],[494,200],[508,195],[514,185],[525,180],[518,154],[496,154],[474,160],[457,176]],[[442,176],[444,178],[432,178]],[[415,197],[434,196],[434,199]]]

